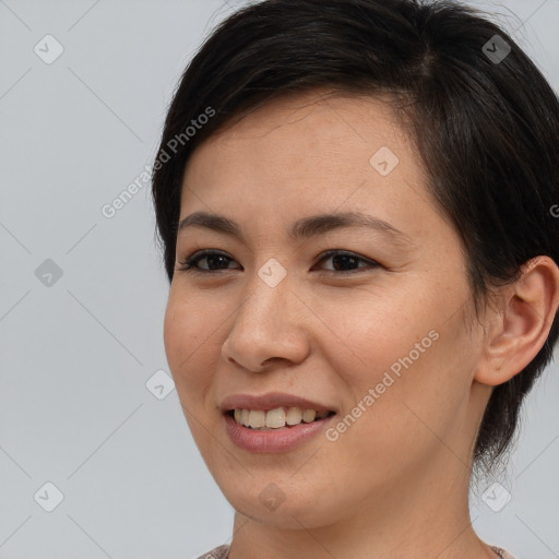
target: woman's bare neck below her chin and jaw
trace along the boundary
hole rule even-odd
[[[331,523],[317,522],[312,507],[300,504],[277,509],[275,524],[237,512],[229,559],[497,558],[472,526],[469,468],[449,449],[437,460],[438,467],[426,464],[420,478],[416,471],[404,481],[360,496]]]

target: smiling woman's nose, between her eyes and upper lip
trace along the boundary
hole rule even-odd
[[[252,372],[275,362],[281,367],[300,364],[310,352],[309,314],[288,276],[274,287],[257,276],[236,312],[222,357]]]

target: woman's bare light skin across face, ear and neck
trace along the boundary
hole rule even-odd
[[[199,261],[222,267],[211,274],[175,272],[164,333],[195,443],[236,510],[229,557],[495,558],[469,522],[475,433],[493,386],[543,346],[559,270],[531,261],[473,320],[459,236],[391,109],[317,94],[282,97],[212,135],[185,174],[180,218],[222,214],[246,239],[179,233],[177,262],[201,249],[230,260]],[[384,177],[369,163],[381,146],[400,159]],[[409,242],[366,227],[287,235],[298,218],[341,211],[384,219]],[[365,260],[344,275],[343,259],[322,259],[329,249]],[[272,258],[287,271],[273,288],[258,275]],[[238,393],[308,396],[345,417],[430,331],[438,340],[336,441],[253,454],[227,437],[218,406]],[[285,497],[273,511],[259,498],[272,483]]]

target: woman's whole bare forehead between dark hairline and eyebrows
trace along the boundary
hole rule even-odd
[[[369,211],[402,224],[419,202],[435,210],[425,183],[414,143],[385,100],[290,94],[194,151],[180,216],[210,211],[263,228],[309,214]]]

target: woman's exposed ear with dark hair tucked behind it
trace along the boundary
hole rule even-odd
[[[500,288],[475,380],[498,385],[518,374],[544,346],[559,307],[559,267],[549,257],[525,262],[521,276]]]

